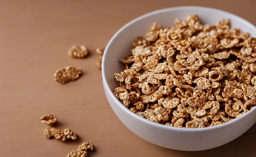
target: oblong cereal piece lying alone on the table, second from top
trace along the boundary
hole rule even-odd
[[[54,78],[55,81],[65,84],[70,80],[78,79],[81,74],[82,69],[80,67],[65,67],[58,69],[54,74]]]

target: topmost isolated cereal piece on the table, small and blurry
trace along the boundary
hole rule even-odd
[[[87,56],[87,54],[88,54],[88,51],[84,45],[81,45],[81,46],[74,45],[68,50],[68,55],[73,58],[83,58]]]

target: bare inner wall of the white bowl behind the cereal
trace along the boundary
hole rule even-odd
[[[109,85],[111,91],[118,86],[114,79],[114,73],[121,72],[125,68],[119,62],[123,56],[131,51],[131,41],[137,36],[144,36],[152,23],[157,22],[164,27],[174,25],[176,18],[186,20],[190,14],[197,14],[203,24],[216,25],[220,19],[230,19],[231,27],[238,28],[256,36],[254,25],[234,14],[205,7],[175,7],[154,11],[136,18],[122,27],[108,43],[102,60],[102,77]],[[114,96],[114,95],[113,95]]]

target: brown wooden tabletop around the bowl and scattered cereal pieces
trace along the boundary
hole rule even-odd
[[[94,157],[255,157],[256,125],[222,147],[174,151],[134,135],[107,102],[94,50],[142,14],[185,5],[226,10],[256,24],[256,1],[252,0],[1,0],[0,156],[64,157],[90,141],[95,151],[89,155]],[[85,44],[90,56],[71,59],[67,50],[74,44]],[[53,74],[65,66],[82,67],[84,75],[61,85]],[[45,139],[43,114],[56,115],[58,128],[70,128],[79,139]]]

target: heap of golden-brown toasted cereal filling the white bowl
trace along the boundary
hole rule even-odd
[[[197,15],[176,27],[154,23],[120,61],[114,95],[132,112],[179,128],[223,124],[256,105],[256,38],[230,21],[203,25]]]

